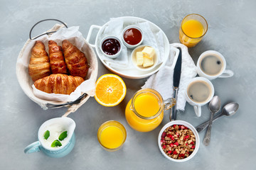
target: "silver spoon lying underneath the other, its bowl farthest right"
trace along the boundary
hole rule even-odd
[[[238,103],[228,103],[227,105],[225,105],[223,107],[223,111],[222,113],[220,113],[220,115],[218,115],[217,117],[213,118],[213,122],[215,120],[217,120],[218,118],[220,118],[221,116],[223,115],[226,115],[226,116],[230,116],[230,115],[234,115],[237,111],[238,111],[238,108],[239,108],[239,105]],[[204,130],[205,128],[207,128],[209,125],[209,121],[205,122],[205,123],[202,123],[201,125],[198,125],[196,127],[196,130],[198,132],[201,132],[202,130]]]

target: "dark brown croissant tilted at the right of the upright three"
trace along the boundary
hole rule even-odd
[[[67,64],[70,74],[85,79],[88,72],[88,63],[85,54],[68,40],[63,40],[62,46],[65,63]]]

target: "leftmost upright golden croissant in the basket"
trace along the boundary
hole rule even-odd
[[[50,75],[49,57],[46,52],[46,47],[41,41],[36,41],[36,44],[31,50],[28,74],[31,76],[33,81]]]

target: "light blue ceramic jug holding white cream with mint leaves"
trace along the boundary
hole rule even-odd
[[[65,143],[63,143],[60,147],[50,147],[47,145],[47,143],[44,141],[43,138],[44,132],[46,132],[47,127],[51,125],[58,125],[61,126],[63,129],[68,131],[68,136],[65,139]],[[69,154],[73,147],[75,146],[75,121],[71,118],[53,118],[50,120],[47,120],[45,123],[41,125],[41,127],[38,130],[38,141],[31,143],[31,145],[28,145],[24,152],[26,154],[31,154],[33,152],[40,152],[43,151],[44,154],[46,154],[48,157],[65,157],[67,154]],[[56,139],[58,140],[58,139]]]

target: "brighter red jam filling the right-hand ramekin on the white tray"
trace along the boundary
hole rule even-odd
[[[129,28],[124,31],[124,41],[129,45],[137,45],[142,40],[142,33],[136,28]]]

